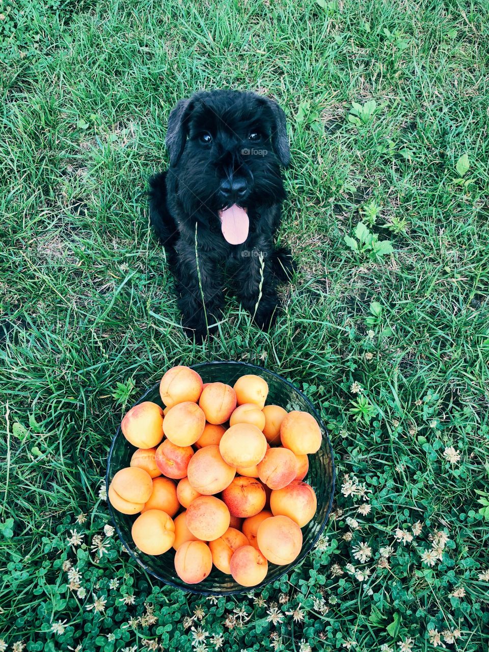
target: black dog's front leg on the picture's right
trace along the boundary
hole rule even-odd
[[[244,250],[234,273],[236,292],[256,325],[267,331],[277,317],[277,279],[273,274],[272,248]]]

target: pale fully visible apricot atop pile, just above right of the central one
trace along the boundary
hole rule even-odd
[[[226,430],[219,443],[219,450],[231,466],[255,466],[267,452],[267,440],[256,426],[237,423]]]

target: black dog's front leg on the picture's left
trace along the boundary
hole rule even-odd
[[[186,334],[202,342],[207,333],[215,331],[224,303],[223,276],[218,263],[209,252],[199,250],[194,243],[177,244],[175,276],[179,291],[179,306]]]

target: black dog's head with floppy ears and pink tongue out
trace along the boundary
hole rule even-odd
[[[166,145],[186,215],[220,220],[231,244],[246,240],[248,207],[284,199],[289,164],[284,111],[256,93],[202,91],[170,113]]]

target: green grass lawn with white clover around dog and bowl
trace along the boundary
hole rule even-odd
[[[0,14],[0,651],[485,651],[489,642],[486,2],[6,0]],[[271,333],[229,297],[180,326],[145,189],[171,107],[254,89],[287,113]],[[262,364],[321,410],[318,547],[209,600],[110,527],[127,406],[175,363]]]

